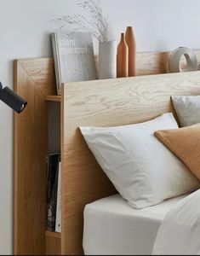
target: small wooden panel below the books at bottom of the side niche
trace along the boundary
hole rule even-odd
[[[60,255],[61,234],[46,231],[46,255]]]

